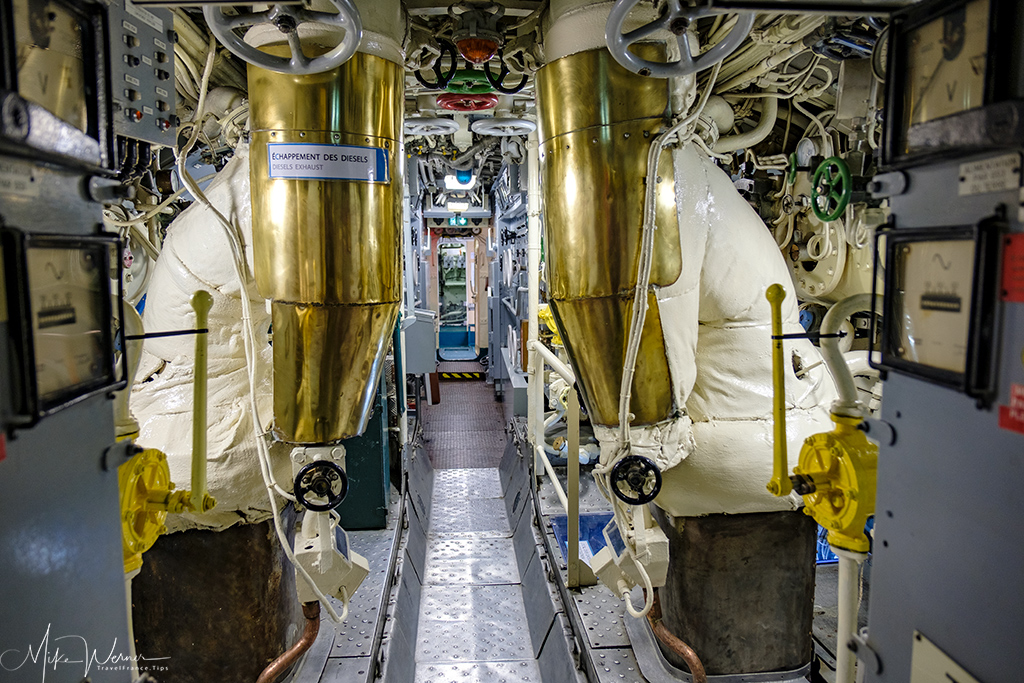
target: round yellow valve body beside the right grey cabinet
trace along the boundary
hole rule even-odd
[[[859,419],[831,419],[836,429],[809,436],[793,471],[814,482],[814,493],[804,496],[804,512],[828,529],[828,543],[866,553],[864,524],[874,514],[879,446],[857,429]]]

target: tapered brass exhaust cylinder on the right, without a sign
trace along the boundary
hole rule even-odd
[[[662,51],[644,46],[647,52]],[[663,52],[664,53],[664,52]],[[657,58],[648,56],[647,58]],[[618,424],[618,394],[636,289],[647,151],[669,106],[666,81],[626,71],[605,49],[537,73],[548,297],[596,424]],[[658,162],[651,285],[679,279],[682,258],[672,157]],[[657,302],[633,380],[634,425],[673,417]]]

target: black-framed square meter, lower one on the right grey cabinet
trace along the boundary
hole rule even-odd
[[[880,230],[887,296],[879,367],[989,397],[1000,230],[995,219]]]

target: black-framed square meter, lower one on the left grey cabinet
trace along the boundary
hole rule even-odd
[[[11,402],[19,423],[32,424],[123,386],[112,330],[113,299],[119,295],[112,297],[111,291],[112,264],[120,270],[120,259],[112,258],[117,238],[13,228],[0,238],[13,342]]]

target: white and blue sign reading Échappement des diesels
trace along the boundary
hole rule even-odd
[[[391,182],[387,150],[350,144],[271,142],[271,178]]]

